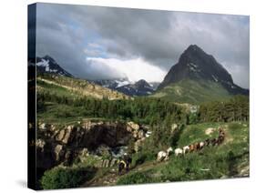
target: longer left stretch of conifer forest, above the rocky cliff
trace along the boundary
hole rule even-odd
[[[46,110],[46,102],[54,102],[74,109],[80,107],[84,117],[134,120],[148,125],[163,122],[167,118],[169,122],[181,122],[185,115],[182,107],[162,98],[136,97],[129,100],[108,100],[108,98],[92,97],[71,98],[49,92],[38,92],[36,99],[38,111]]]

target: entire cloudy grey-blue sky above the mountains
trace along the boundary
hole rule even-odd
[[[36,15],[36,55],[74,76],[161,81],[196,44],[249,87],[249,16],[55,4]]]

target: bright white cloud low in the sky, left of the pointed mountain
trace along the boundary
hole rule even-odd
[[[113,77],[128,77],[132,82],[145,79],[148,82],[161,82],[167,72],[158,66],[153,66],[147,61],[138,57],[136,59],[120,60],[117,58],[87,57],[87,62],[94,68],[101,68],[101,72],[113,74]]]

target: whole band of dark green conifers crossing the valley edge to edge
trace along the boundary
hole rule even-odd
[[[71,98],[57,96],[49,92],[37,93],[37,109],[43,110],[45,102],[82,108],[84,117],[106,117],[113,119],[134,120],[150,126],[159,123],[186,125],[199,122],[231,122],[249,120],[249,97],[233,96],[227,101],[213,101],[200,105],[196,113],[188,113],[165,98],[136,97],[126,100],[96,99],[92,97]],[[72,114],[72,112],[70,112]]]

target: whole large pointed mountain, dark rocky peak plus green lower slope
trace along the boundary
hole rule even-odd
[[[179,56],[178,63],[170,67],[153,94],[179,103],[200,103],[234,95],[248,96],[249,90],[237,86],[228,70],[196,45],[190,45]]]

